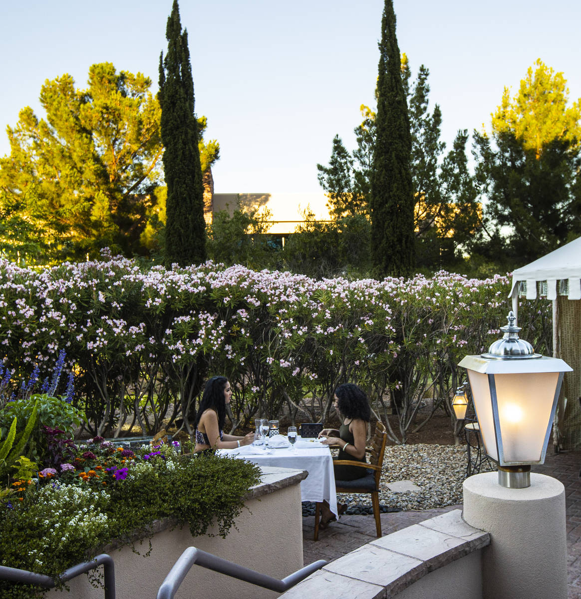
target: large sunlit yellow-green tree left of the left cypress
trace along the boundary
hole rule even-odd
[[[159,106],[141,73],[92,65],[88,87],[47,80],[40,102],[8,126],[0,158],[2,250],[45,260],[94,255],[105,245],[138,250],[147,204],[161,179]]]

